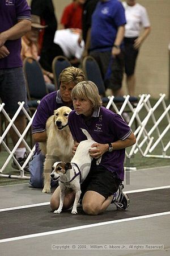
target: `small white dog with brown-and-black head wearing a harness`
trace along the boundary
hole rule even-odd
[[[71,162],[56,162],[52,167],[51,177],[53,180],[59,180],[60,187],[59,208],[54,213],[61,213],[62,211],[66,188],[71,188],[75,191],[75,200],[71,213],[77,213],[76,207],[81,194],[80,184],[86,179],[91,167],[92,157],[89,154],[89,150],[91,145],[96,143],[87,130],[82,129],[82,131],[87,140],[79,143]],[[97,160],[97,164],[100,163],[100,160],[101,157]]]

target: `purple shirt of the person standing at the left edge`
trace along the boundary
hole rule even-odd
[[[13,27],[19,20],[31,20],[31,8],[26,0],[1,0],[0,1],[0,33]],[[21,39],[5,42],[10,54],[0,59],[0,68],[22,67],[20,56]]]

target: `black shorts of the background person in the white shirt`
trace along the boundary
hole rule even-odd
[[[124,38],[125,46],[125,73],[127,76],[133,75],[138,56],[138,49],[134,48],[134,40],[137,38]]]

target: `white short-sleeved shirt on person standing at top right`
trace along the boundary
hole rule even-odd
[[[126,2],[122,2],[122,4],[126,17],[125,37],[138,37],[142,27],[150,27],[147,11],[139,3],[135,3],[134,6],[129,6]]]

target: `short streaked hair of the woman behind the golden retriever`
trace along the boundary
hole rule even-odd
[[[67,84],[68,82],[74,82],[74,84],[78,84],[78,82],[84,81],[85,76],[80,68],[68,67],[63,69],[63,71],[59,75],[59,84],[63,82]]]

